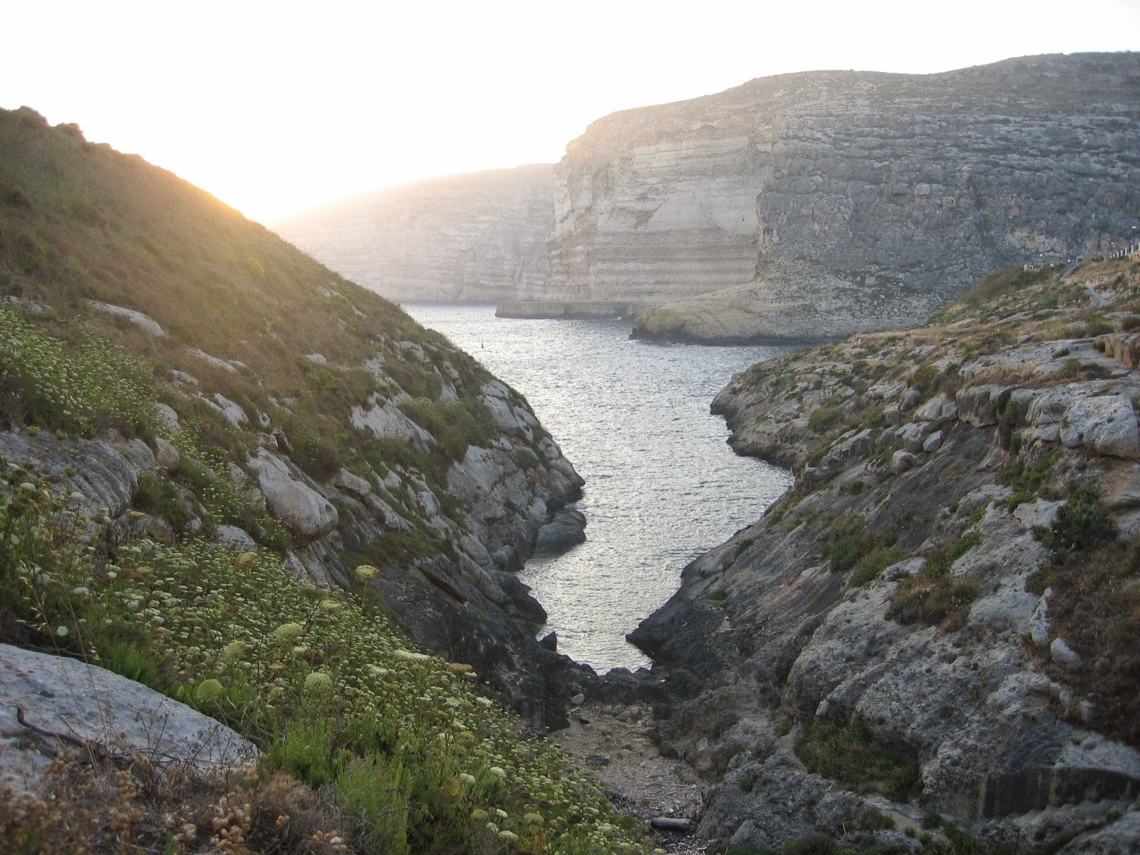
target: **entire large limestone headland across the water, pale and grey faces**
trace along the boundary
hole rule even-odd
[[[657,337],[917,321],[994,268],[1122,246],[1140,218],[1138,120],[1133,54],[784,74],[616,113],[555,168],[540,296],[667,302],[756,283],[725,295],[760,303],[730,328],[707,300],[650,312],[637,332]]]

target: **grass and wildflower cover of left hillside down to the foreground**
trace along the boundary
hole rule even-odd
[[[376,586],[458,563],[470,508],[447,472],[469,446],[529,445],[531,469],[507,474],[540,478],[546,434],[499,432],[481,366],[209,194],[26,108],[0,111],[0,441],[31,449],[0,461],[0,641],[98,662],[263,751],[218,777],[114,746],[65,758],[39,792],[0,793],[16,850],[641,850],[564,756],[521,736],[497,675],[418,652]],[[373,396],[430,441],[355,426]],[[71,482],[87,451],[142,443],[177,463],[91,507]],[[334,538],[345,589],[287,563],[303,544],[242,474],[266,443],[314,489],[349,470],[398,518],[355,552]],[[217,542],[225,524],[256,545]]]

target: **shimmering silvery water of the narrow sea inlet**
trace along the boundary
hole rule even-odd
[[[791,480],[733,454],[724,420],[709,415],[734,372],[787,348],[630,341],[629,321],[514,320],[490,306],[405,309],[526,396],[586,479],[586,543],[521,573],[559,652],[598,671],[648,665],[626,633]]]

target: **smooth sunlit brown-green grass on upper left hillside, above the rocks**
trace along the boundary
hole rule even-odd
[[[74,341],[93,333],[144,357],[160,381],[170,369],[197,377],[207,393],[239,404],[251,422],[264,414],[279,424],[296,462],[315,477],[334,463],[401,454],[356,435],[350,405],[392,384],[437,399],[445,361],[478,421],[472,396],[489,378],[478,363],[210,194],[140,157],[84,141],[74,125],[48,128],[27,108],[0,114],[0,291],[46,307],[36,321],[54,335]],[[140,311],[166,334],[96,311],[90,300]],[[81,328],[70,323],[76,318]],[[406,340],[430,363],[404,359],[394,343]],[[377,351],[390,383],[360,367]],[[158,397],[181,409],[165,390]],[[204,421],[212,445],[235,459],[249,450],[250,438]],[[413,463],[439,474],[441,461]]]

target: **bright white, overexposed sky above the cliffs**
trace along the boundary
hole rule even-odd
[[[272,223],[554,163],[608,113],[752,78],[1137,50],[1140,0],[10,0],[0,32],[0,106],[75,122]]]

